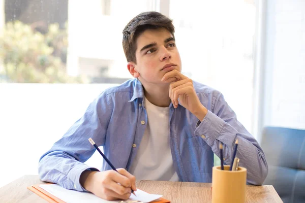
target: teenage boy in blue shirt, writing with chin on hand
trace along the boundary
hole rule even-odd
[[[136,190],[135,177],[211,182],[219,144],[230,164],[238,139],[236,157],[247,168],[248,183],[264,182],[265,155],[224,96],[181,74],[171,19],[158,12],[139,14],[123,30],[123,49],[134,79],[102,92],[41,157],[41,180],[109,200],[127,199]],[[194,60],[200,68],[200,59]],[[89,138],[119,173],[105,161],[101,171],[83,163],[95,152]]]

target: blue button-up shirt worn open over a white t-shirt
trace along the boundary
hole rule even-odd
[[[197,82],[194,88],[208,109],[202,122],[180,105],[177,109],[169,106],[170,149],[179,181],[211,182],[214,153],[220,156],[219,143],[224,144],[224,162],[230,165],[238,139],[236,157],[240,159],[239,165],[247,168],[248,183],[262,184],[268,166],[257,141],[237,121],[219,91]],[[104,148],[104,154],[116,168],[129,170],[138,151],[135,146],[140,145],[147,123],[143,97],[143,87],[137,79],[102,92],[83,117],[40,158],[40,179],[84,191],[79,183],[81,173],[97,170],[83,163],[96,150],[89,138]],[[101,170],[110,169],[104,161]]]

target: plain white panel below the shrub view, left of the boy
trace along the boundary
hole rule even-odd
[[[37,175],[40,156],[114,84],[0,84],[0,187]],[[101,155],[88,165],[100,168]]]

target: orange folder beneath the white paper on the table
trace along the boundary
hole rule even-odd
[[[53,183],[46,183],[46,184],[53,184]],[[50,194],[49,192],[45,191],[41,187],[41,184],[28,186],[27,189],[31,190],[32,192],[36,193],[38,196],[42,197],[43,199],[47,200],[50,203],[66,203],[62,199],[55,197],[54,195]],[[152,201],[154,203],[169,203],[170,201],[164,198],[160,198],[157,201]]]

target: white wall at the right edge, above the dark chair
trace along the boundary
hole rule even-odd
[[[263,125],[305,129],[305,1],[269,0]]]

